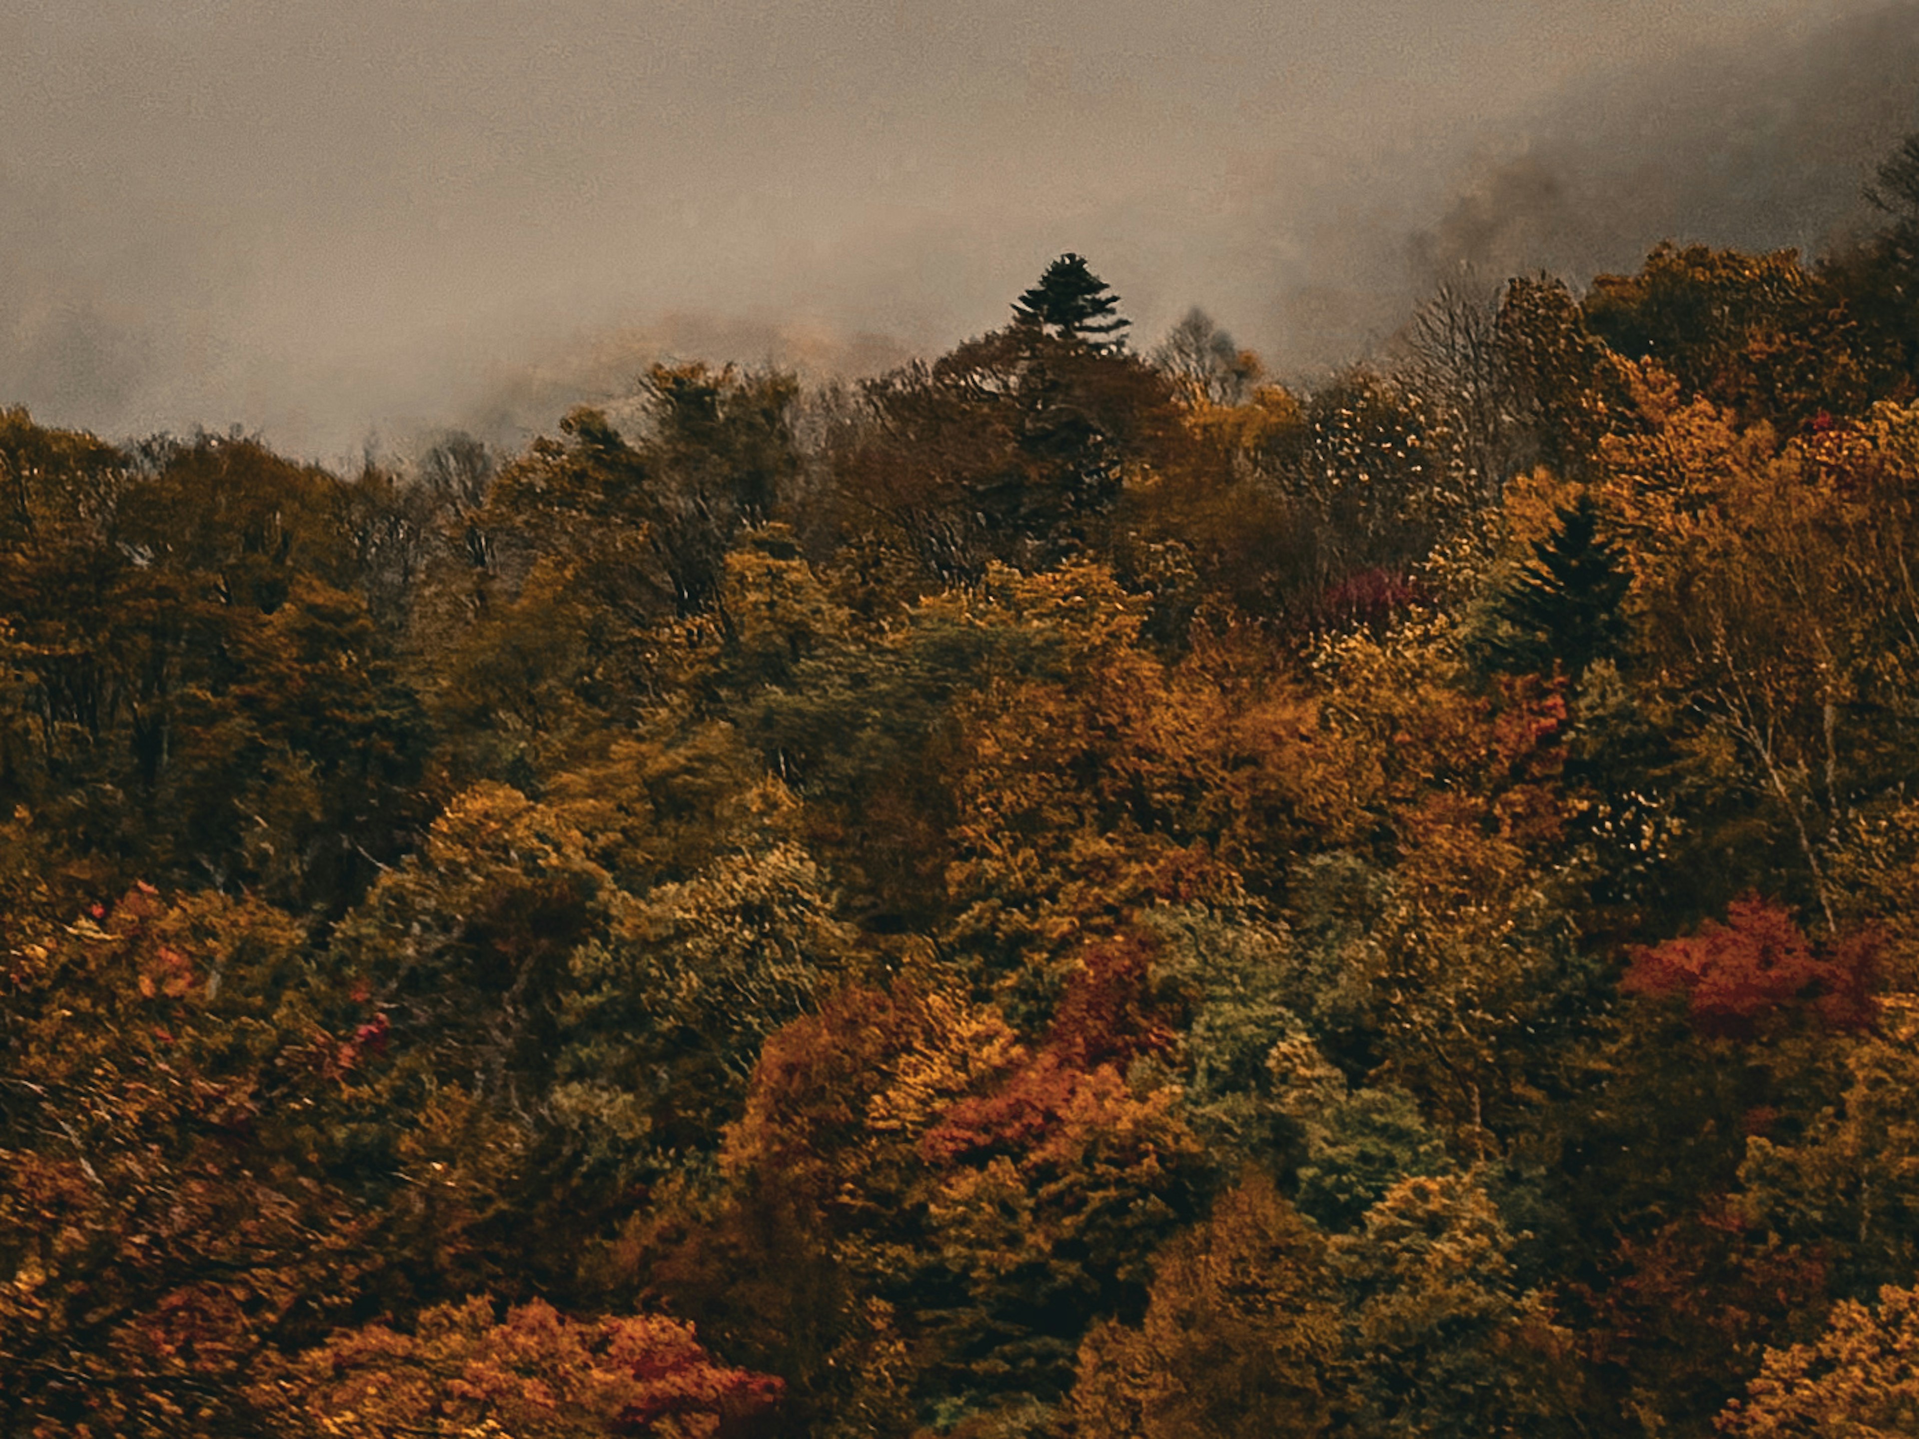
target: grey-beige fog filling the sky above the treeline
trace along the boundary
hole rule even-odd
[[[0,0],[0,403],[516,439],[662,353],[933,353],[1063,249],[1311,374],[1460,265],[1823,246],[1913,129],[1863,0]]]

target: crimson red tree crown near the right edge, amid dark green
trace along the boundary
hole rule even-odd
[[[1693,938],[1637,950],[1622,986],[1685,996],[1693,1028],[1710,1038],[1750,1040],[1800,1015],[1844,1032],[1873,1019],[1877,965],[1877,934],[1815,946],[1787,909],[1746,896],[1723,925],[1706,921]]]

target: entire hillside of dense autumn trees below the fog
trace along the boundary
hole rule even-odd
[[[0,416],[0,1431],[1919,1431],[1919,140],[1311,391],[1061,257]]]

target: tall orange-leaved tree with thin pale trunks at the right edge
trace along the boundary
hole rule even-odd
[[[1741,815],[1718,835],[1700,815],[1696,842],[1737,844],[1756,877],[1794,848],[1794,888],[1831,923],[1840,831],[1913,779],[1911,748],[1883,721],[1919,672],[1915,416],[1881,405],[1781,443],[1706,401],[1666,399],[1648,399],[1647,434],[1604,449],[1597,491],[1633,576],[1622,668],[1681,783],[1706,796],[1698,810]]]

